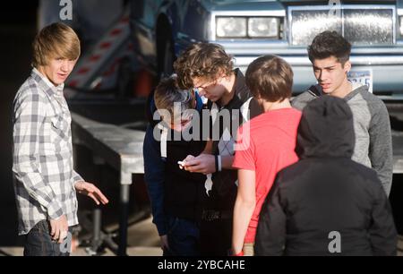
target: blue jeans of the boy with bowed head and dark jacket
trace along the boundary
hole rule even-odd
[[[184,218],[167,217],[169,250],[164,256],[200,256],[199,226]]]

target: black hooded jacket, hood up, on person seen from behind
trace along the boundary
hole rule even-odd
[[[353,116],[340,98],[304,108],[296,151],[261,212],[256,255],[395,255],[397,232],[373,169],[351,160]],[[339,248],[339,249],[338,249]]]

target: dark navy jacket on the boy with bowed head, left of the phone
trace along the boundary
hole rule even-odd
[[[196,93],[196,109],[201,111],[201,98]],[[204,141],[167,141],[167,158],[161,158],[160,142],[153,137],[159,121],[152,119],[157,110],[153,92],[147,101],[146,116],[150,124],[143,142],[144,181],[150,196],[153,223],[159,235],[167,234],[167,214],[178,218],[193,219],[200,215],[201,197],[205,176],[179,169],[178,160],[187,155],[198,155],[204,149]],[[200,189],[200,192],[199,192]]]

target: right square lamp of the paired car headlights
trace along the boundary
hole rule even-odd
[[[279,38],[279,18],[251,17],[248,19],[248,36],[251,38]]]

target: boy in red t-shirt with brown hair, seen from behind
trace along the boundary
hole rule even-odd
[[[264,113],[239,128],[233,167],[238,168],[232,251],[253,255],[262,203],[280,169],[295,163],[301,112],[289,103],[293,72],[278,56],[262,56],[246,71],[246,85]]]

